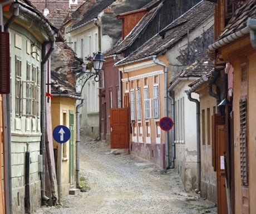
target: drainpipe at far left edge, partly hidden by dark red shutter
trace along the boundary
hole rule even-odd
[[[11,18],[3,25],[3,7],[13,3],[14,0],[0,2],[1,32],[8,31],[9,26],[18,16],[18,8],[14,9]],[[2,94],[2,120],[3,120],[3,158],[4,158],[4,208],[5,213],[12,213],[12,150],[11,150],[11,94]]]

